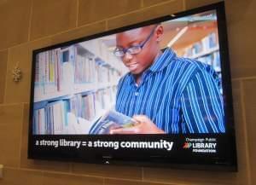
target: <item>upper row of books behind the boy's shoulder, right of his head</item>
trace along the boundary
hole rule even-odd
[[[185,50],[184,57],[193,58],[195,55],[206,53],[207,51],[218,47],[218,35],[212,32],[199,42],[194,43]]]

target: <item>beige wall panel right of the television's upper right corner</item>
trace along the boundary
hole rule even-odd
[[[232,78],[256,77],[256,1],[225,1]]]

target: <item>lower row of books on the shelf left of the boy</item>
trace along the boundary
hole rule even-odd
[[[90,125],[96,122],[103,110],[113,106],[115,92],[116,87],[109,87],[47,102],[34,110],[33,134],[88,134]]]

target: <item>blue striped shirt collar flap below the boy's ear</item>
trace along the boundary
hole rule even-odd
[[[164,53],[156,58],[152,66],[149,67],[151,72],[159,72],[163,70],[166,66],[170,64],[173,58],[176,57],[176,54],[172,49],[165,49]]]

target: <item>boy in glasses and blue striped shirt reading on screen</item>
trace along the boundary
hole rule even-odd
[[[200,61],[160,50],[163,26],[116,35],[114,54],[129,71],[119,80],[116,111],[137,124],[110,134],[222,133],[224,105],[218,75]]]

